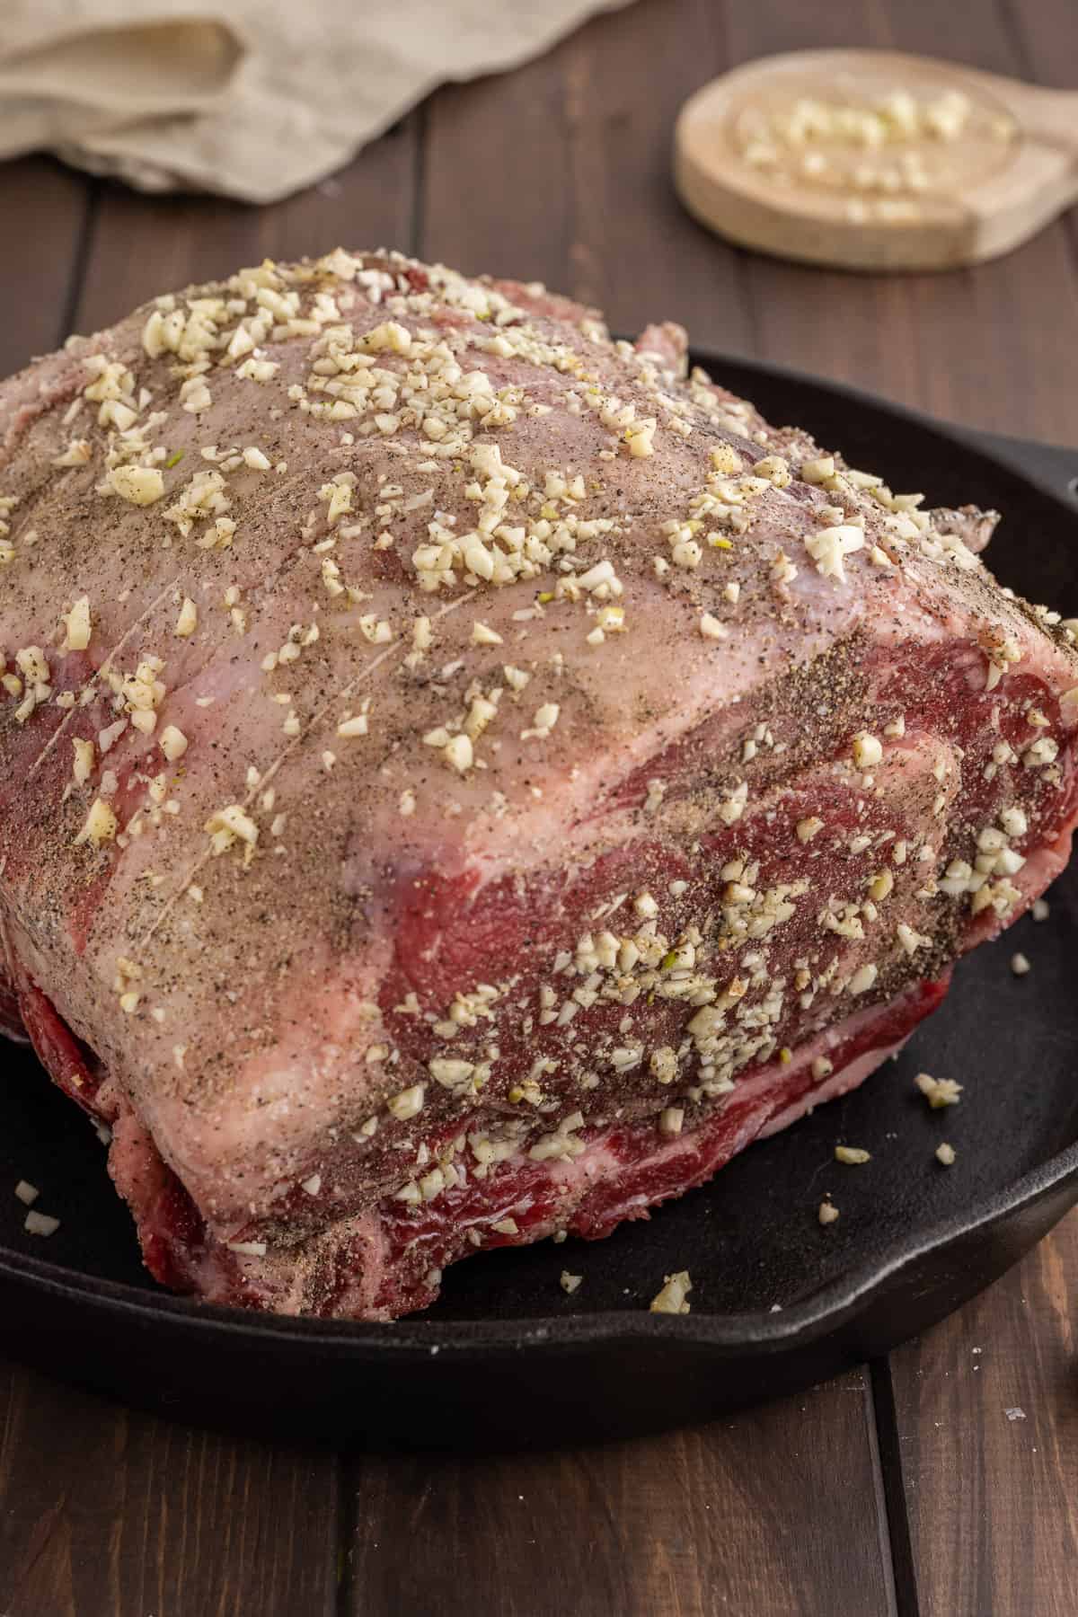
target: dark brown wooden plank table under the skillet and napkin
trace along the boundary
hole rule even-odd
[[[638,0],[512,76],[441,91],[351,168],[260,212],[11,163],[0,374],[267,254],[393,244],[543,278],[616,330],[671,315],[701,346],[1078,443],[1073,217],[1000,264],[874,280],[750,257],[679,210],[682,99],[747,57],[844,44],[1063,84],[1078,11]],[[887,1363],[698,1431],[553,1457],[297,1452],[0,1365],[0,1612],[1073,1617],[1076,1292],[1078,1216]]]

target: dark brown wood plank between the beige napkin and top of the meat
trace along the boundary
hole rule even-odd
[[[414,230],[417,120],[310,191],[254,209],[223,197],[147,197],[107,186],[86,255],[76,328],[110,325],[147,298],[231,275],[263,257],[336,246],[407,247]]]

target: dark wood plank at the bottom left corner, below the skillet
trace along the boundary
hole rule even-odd
[[[0,1370],[10,1617],[330,1617],[336,1505],[333,1455],[202,1433]]]

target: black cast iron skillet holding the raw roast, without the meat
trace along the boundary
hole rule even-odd
[[[747,361],[703,362],[774,422],[933,505],[1005,513],[1004,582],[1078,611],[1078,454],[928,422]],[[907,1053],[853,1095],[753,1145],[701,1190],[609,1240],[545,1242],[448,1271],[425,1316],[278,1319],[168,1297],[145,1277],[94,1130],[32,1056],[0,1049],[0,1344],[189,1420],[339,1444],[554,1444],[706,1420],[884,1353],[994,1281],[1078,1201],[1078,872],[955,975]],[[1033,960],[1015,978],[1009,960]],[[965,1085],[929,1112],[913,1075]],[[949,1140],[955,1166],[934,1150]],[[834,1145],[866,1146],[839,1167]],[[63,1219],[23,1234],[18,1179]],[[821,1229],[831,1192],[842,1216]],[[562,1269],[583,1274],[569,1297]],[[646,1311],[688,1269],[692,1313]]]

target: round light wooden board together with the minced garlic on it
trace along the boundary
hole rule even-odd
[[[1078,199],[1078,91],[929,57],[761,57],[685,103],[685,207],[785,259],[942,270],[999,257]]]

